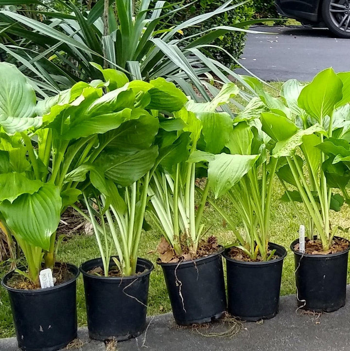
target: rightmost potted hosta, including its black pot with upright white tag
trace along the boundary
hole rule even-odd
[[[320,72],[306,86],[288,81],[281,94],[289,109],[280,101],[261,116],[262,130],[275,143],[272,155],[279,159],[277,174],[285,188],[283,198],[305,207],[306,217],[294,206],[307,236],[304,239],[301,234],[294,240],[291,250],[298,305],[316,312],[335,311],[346,299],[350,242],[335,235],[337,226],[330,221],[330,211],[339,211],[344,199],[332,191],[331,179],[327,181],[327,140],[338,128],[334,123],[337,108],[350,100],[348,85],[344,75],[332,69]]]

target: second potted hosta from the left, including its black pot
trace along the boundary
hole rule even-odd
[[[96,158],[95,166],[88,162],[71,174],[73,178],[89,174],[82,191],[101,258],[83,263],[80,270],[89,336],[99,340],[137,337],[146,327],[153,265],[138,257],[139,242],[150,179],[168,156],[164,149],[158,153],[155,137],[159,121],[164,127],[170,114],[187,101],[183,92],[163,78],[127,83],[121,104],[125,96],[131,115],[142,111],[141,117],[108,133],[113,142]]]

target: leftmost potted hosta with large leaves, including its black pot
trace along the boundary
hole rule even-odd
[[[154,103],[152,93],[156,99],[159,94],[149,85],[154,90],[147,92],[143,82],[134,90],[132,83],[124,86],[123,74],[117,74],[117,89],[107,93],[102,81],[80,82],[36,104],[32,86],[15,66],[1,63],[0,75],[6,92],[0,111],[1,221],[27,261],[27,267],[3,277],[2,284],[10,295],[18,345],[57,350],[76,337],[79,274],[77,267],[55,262],[60,214],[82,194],[78,187],[84,189],[88,166],[102,157],[104,166],[115,165],[114,148],[122,139],[114,130],[149,115],[143,107]],[[53,271],[53,281],[40,282],[42,268]]]

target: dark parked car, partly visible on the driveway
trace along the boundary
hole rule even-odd
[[[276,0],[277,11],[303,24],[327,26],[333,34],[350,38],[349,0]]]

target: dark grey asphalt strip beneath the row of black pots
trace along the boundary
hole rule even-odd
[[[348,296],[350,288],[348,287]],[[111,311],[112,312],[112,311]],[[80,328],[70,351],[349,351],[350,301],[329,314],[302,314],[295,295],[280,298],[280,313],[263,322],[237,325],[214,322],[211,327],[180,328],[171,314],[148,318],[146,333],[106,348],[88,339]],[[232,329],[230,329],[232,328]],[[217,333],[215,336],[213,333]],[[227,333],[224,336],[223,333]],[[0,340],[1,351],[18,351],[16,339]],[[66,350],[66,349],[65,349]]]

